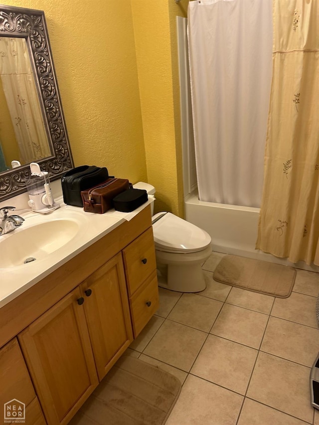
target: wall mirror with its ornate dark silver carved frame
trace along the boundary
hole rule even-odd
[[[13,68],[9,71],[5,63],[8,57]],[[23,63],[19,62],[22,57]],[[30,87],[25,88],[24,83],[14,80],[20,78],[12,77],[18,74],[15,68],[22,69],[21,74],[30,74],[29,82],[25,83]],[[6,81],[8,75],[10,81]],[[51,180],[74,166],[42,10],[0,5],[0,82],[11,118],[0,121],[11,121],[11,134],[16,139],[13,142],[14,137],[9,137],[6,147],[12,148],[12,143],[16,143],[19,155],[24,158],[21,166],[11,168],[11,164],[6,164],[8,169],[0,172],[2,201],[26,191],[24,179],[30,175],[30,162],[38,162]],[[4,117],[1,104],[4,102],[0,101],[0,114]],[[0,147],[0,159],[5,163],[5,145]]]

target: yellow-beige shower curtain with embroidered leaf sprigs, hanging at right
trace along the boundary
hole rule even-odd
[[[319,1],[274,0],[257,249],[319,265]]]

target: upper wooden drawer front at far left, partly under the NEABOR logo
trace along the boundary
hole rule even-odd
[[[35,398],[33,385],[16,338],[0,350],[0,383],[0,424],[3,424],[5,403],[16,399],[27,406]]]

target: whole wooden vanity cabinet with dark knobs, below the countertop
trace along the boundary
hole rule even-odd
[[[0,308],[0,360],[9,344],[18,349],[24,375],[13,360],[12,369],[21,388],[28,383],[32,425],[45,423],[41,408],[48,425],[66,425],[158,302],[148,206]],[[4,372],[0,361],[0,378]]]

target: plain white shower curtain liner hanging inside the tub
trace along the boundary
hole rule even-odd
[[[199,199],[259,207],[272,75],[272,0],[188,3]]]

